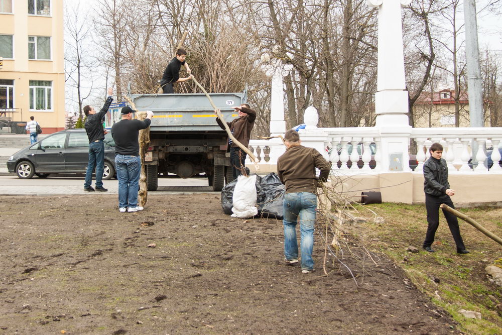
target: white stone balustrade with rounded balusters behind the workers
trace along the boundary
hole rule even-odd
[[[312,110],[310,111],[312,112]],[[316,148],[326,159],[331,161],[333,174],[390,172],[381,168],[382,161],[388,160],[390,157],[380,155],[382,135],[376,127],[302,129],[299,133],[302,145]],[[418,166],[414,173],[423,173],[424,162],[430,157],[428,149],[433,142],[438,142],[443,146],[443,158],[446,160],[451,174],[502,174],[502,168],[498,164],[493,164],[489,170],[485,164],[478,164],[474,169],[469,166],[469,160],[472,158],[470,147],[472,140],[476,140],[479,146],[476,155],[477,161],[484,162],[486,155],[481,150],[482,144],[485,143],[487,148],[498,148],[502,141],[502,128],[414,128],[408,142],[410,139],[414,139],[417,144]],[[318,146],[319,143],[322,143],[321,150]],[[349,145],[352,145],[353,148],[351,153],[348,151]],[[358,146],[359,149],[362,148],[362,154],[358,152]],[[373,153],[371,153],[370,146],[373,148]],[[259,158],[259,165],[266,164],[270,167],[277,164],[277,159],[286,150],[279,138],[252,140],[249,142],[249,148]],[[501,159],[498,150],[493,150],[491,159],[493,162],[498,162]],[[349,161],[356,162],[356,164],[349,167],[347,165]],[[252,163],[249,158],[247,158],[247,163]],[[268,170],[265,169],[265,171]]]

